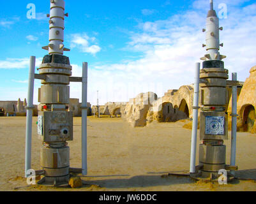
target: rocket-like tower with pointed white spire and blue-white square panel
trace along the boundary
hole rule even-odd
[[[200,80],[200,107],[196,108],[200,108],[200,140],[202,143],[199,145],[197,172],[193,168],[195,142],[192,145],[193,156],[190,172],[194,173],[192,177],[211,180],[218,179],[220,171],[227,172],[227,170],[237,169],[236,166],[226,164],[224,140],[228,139],[228,115],[226,113],[228,93],[226,87],[229,71],[224,68],[222,61],[226,56],[219,52],[220,47],[223,46],[223,43],[220,44],[220,30],[222,31],[222,29],[223,27],[219,27],[216,11],[213,10],[213,0],[210,0],[206,29],[202,30],[206,33],[206,44],[202,45],[202,47],[206,47],[206,55],[200,58],[204,61],[202,69],[199,68],[200,65],[197,65],[199,72],[197,78]],[[193,126],[193,130],[197,131],[197,125]]]

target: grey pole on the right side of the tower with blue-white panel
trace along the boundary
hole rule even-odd
[[[232,80],[237,81],[237,73],[232,73]],[[236,165],[236,123],[237,123],[237,86],[232,86],[232,129],[231,129],[231,156],[230,165]],[[234,174],[234,170],[230,173]]]

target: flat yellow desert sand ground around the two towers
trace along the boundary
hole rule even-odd
[[[33,117],[32,168],[40,170],[41,140],[36,121],[37,117]],[[190,177],[166,176],[169,172],[189,171],[191,130],[183,128],[185,122],[188,120],[132,128],[121,118],[88,117],[88,175],[81,176],[83,187],[71,189],[27,187],[26,117],[0,117],[0,191],[256,191],[253,180],[219,185],[195,182]],[[81,118],[74,118],[74,140],[68,142],[73,168],[81,167],[80,141]],[[225,145],[229,164],[230,139]],[[237,133],[239,170],[255,172],[255,147],[256,135]]]

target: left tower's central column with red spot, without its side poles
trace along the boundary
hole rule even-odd
[[[73,117],[68,111],[70,103],[70,76],[72,66],[69,57],[63,55],[64,48],[64,0],[50,1],[49,55],[43,57],[39,67],[41,88],[38,101],[38,134],[42,136],[40,152],[41,168],[45,177],[40,184],[67,184],[70,178],[70,148],[66,141],[73,140]]]

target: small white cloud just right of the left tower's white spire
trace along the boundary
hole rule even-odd
[[[71,48],[79,48],[80,52],[89,53],[95,55],[100,52],[102,48],[98,45],[90,45],[91,42],[96,41],[96,38],[83,34],[72,34]]]

